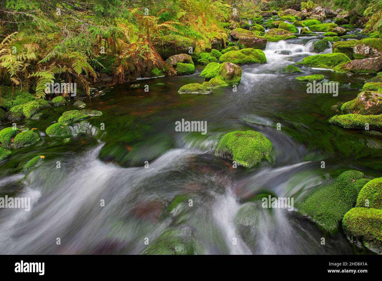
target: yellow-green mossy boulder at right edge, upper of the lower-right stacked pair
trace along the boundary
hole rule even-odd
[[[366,205],[368,200],[368,206]],[[369,181],[358,194],[356,207],[382,209],[382,177]]]

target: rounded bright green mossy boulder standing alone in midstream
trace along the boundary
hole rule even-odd
[[[213,149],[215,156],[231,159],[246,167],[253,167],[262,159],[272,162],[272,143],[262,133],[252,130],[226,133]]]

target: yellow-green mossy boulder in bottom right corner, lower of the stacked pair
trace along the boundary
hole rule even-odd
[[[342,227],[351,242],[361,242],[367,249],[382,254],[382,210],[353,208],[342,220]]]

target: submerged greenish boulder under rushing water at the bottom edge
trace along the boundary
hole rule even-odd
[[[143,255],[193,255],[192,232],[186,228],[168,229],[150,243]]]

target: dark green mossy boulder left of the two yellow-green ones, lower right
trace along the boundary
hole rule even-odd
[[[312,218],[325,231],[334,232],[345,213],[353,208],[358,192],[368,181],[363,172],[343,172],[330,184],[298,201],[296,207],[299,213]]]

